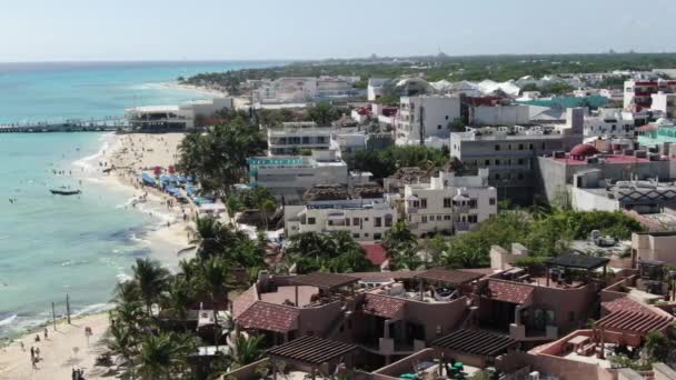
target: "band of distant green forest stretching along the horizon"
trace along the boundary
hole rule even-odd
[[[429,81],[493,79],[505,81],[524,76],[607,72],[613,70],[648,71],[676,68],[676,53],[604,53],[547,56],[419,57],[405,59],[362,59],[294,62],[265,69],[241,69],[200,73],[183,81],[196,86],[216,86],[231,93],[240,92],[247,79],[279,77],[358,76],[356,86],[366,87],[368,78],[396,78],[424,74]]]

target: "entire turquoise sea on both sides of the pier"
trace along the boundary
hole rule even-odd
[[[275,63],[0,63],[0,123],[97,118],[132,106],[205,98],[157,83]],[[87,132],[0,133],[0,338],[50,318],[51,302],[63,314],[67,293],[74,313],[106,308],[133,260],[157,249],[145,237],[160,220],[125,208],[128,191],[83,170],[97,164],[109,139]],[[51,196],[49,188],[59,186],[83,192]]]

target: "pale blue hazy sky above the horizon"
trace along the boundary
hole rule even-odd
[[[0,0],[0,62],[673,52],[674,19],[674,0]]]

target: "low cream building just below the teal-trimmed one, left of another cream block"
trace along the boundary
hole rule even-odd
[[[285,230],[291,237],[304,232],[349,232],[355,240],[375,241],[397,222],[397,211],[382,199],[312,201],[287,206]]]

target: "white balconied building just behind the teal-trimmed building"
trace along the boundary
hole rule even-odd
[[[268,156],[299,154],[300,150],[327,150],[331,146],[330,127],[312,121],[282,122],[268,128]]]

